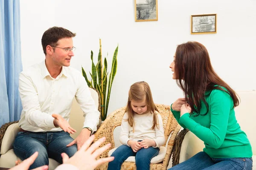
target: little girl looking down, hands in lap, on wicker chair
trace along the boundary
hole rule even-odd
[[[112,153],[115,159],[108,170],[120,170],[129,156],[135,156],[137,170],[149,170],[151,159],[165,142],[163,121],[146,82],[131,85],[119,140],[122,145]]]

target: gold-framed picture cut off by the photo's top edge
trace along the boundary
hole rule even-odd
[[[135,21],[157,21],[157,0],[134,0]]]

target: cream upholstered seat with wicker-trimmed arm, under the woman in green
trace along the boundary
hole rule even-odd
[[[253,170],[256,170],[256,91],[236,91],[239,95],[241,102],[235,108],[236,119],[246,134],[253,148]],[[176,149],[172,153],[168,168],[172,165],[186,161],[194,156],[196,153],[203,151],[204,142],[198,139],[192,132],[181,130],[180,135],[176,139]],[[185,136],[184,136],[185,134]],[[184,137],[184,139],[182,139]],[[180,139],[178,139],[180,138]],[[180,148],[180,149],[179,149]]]

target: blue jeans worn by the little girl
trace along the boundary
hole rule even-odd
[[[135,153],[131,147],[121,145],[112,153],[111,156],[114,156],[115,159],[108,163],[108,170],[120,170],[122,163],[129,156],[135,156],[137,170],[149,170],[151,159],[154,156],[157,156],[158,153],[158,147],[148,147],[147,149],[141,148]]]

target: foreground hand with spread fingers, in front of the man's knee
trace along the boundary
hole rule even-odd
[[[72,164],[75,167],[78,167],[79,170],[94,170],[100,164],[113,161],[113,156],[96,160],[96,157],[111,147],[111,144],[106,144],[98,149],[99,145],[105,141],[105,137],[97,140],[90,146],[93,139],[94,135],[90,136],[81,149],[71,158],[69,158],[66,153],[61,153],[63,163]]]

